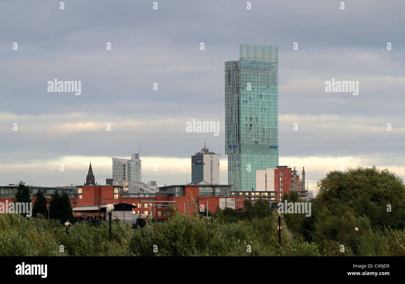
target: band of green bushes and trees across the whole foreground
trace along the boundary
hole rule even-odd
[[[405,256],[405,187],[388,170],[329,172],[318,182],[311,216],[281,214],[277,203],[245,201],[245,211],[192,212],[175,208],[164,223],[132,229],[113,222],[76,223],[66,233],[59,221],[0,214],[0,255],[69,256]],[[292,193],[288,201],[302,202]],[[198,208],[194,206],[194,208]],[[358,228],[355,231],[354,228]],[[63,252],[61,252],[63,246]]]

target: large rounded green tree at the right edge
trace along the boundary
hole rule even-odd
[[[389,226],[404,228],[405,222],[398,217],[405,216],[405,185],[387,169],[373,166],[329,172],[318,182],[318,188],[320,205],[328,208],[330,198],[333,215],[338,214],[340,205],[344,205],[354,209],[355,217],[366,216],[373,227],[381,230]]]

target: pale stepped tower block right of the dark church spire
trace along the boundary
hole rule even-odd
[[[141,162],[142,160],[139,157],[139,154],[132,154],[131,159],[113,159],[113,180],[127,182],[141,182],[142,179],[142,169]],[[117,185],[116,183],[114,183]],[[128,183],[126,183],[128,187]]]

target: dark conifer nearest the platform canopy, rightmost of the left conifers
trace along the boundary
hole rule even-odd
[[[69,195],[66,192],[60,194],[58,191],[55,191],[51,194],[49,216],[52,219],[59,220],[61,223],[67,221],[73,222],[72,205],[70,204]]]

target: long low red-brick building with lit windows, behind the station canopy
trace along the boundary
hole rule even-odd
[[[233,201],[234,209],[242,209],[243,200],[245,200],[244,198],[235,199],[228,184],[174,184],[159,187],[158,192],[145,193],[126,193],[121,186],[77,186],[77,198],[71,201],[73,207],[78,206],[74,208],[74,212],[79,215],[84,211],[80,208],[85,206],[102,207],[109,203],[128,203],[136,207],[132,210],[132,214],[166,219],[169,206],[174,206],[179,212],[190,216],[194,210],[201,208],[200,205],[204,205],[204,208],[208,206],[209,211],[215,212],[218,207],[221,207],[222,199],[229,199],[225,201],[226,204]],[[102,215],[101,210],[98,214]],[[96,215],[96,212],[93,215]],[[128,221],[130,220],[133,219],[128,218]]]

